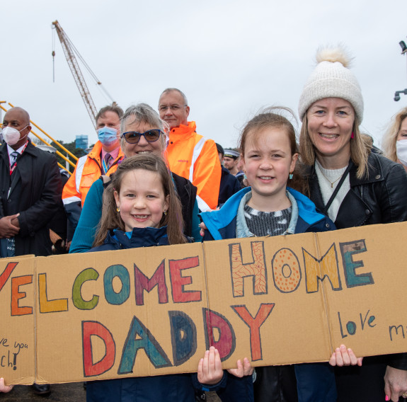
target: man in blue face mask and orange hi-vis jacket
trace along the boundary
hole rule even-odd
[[[99,110],[96,115],[98,142],[86,156],[79,158],[74,173],[64,185],[62,201],[67,211],[71,236],[93,182],[101,175],[110,176],[117,169],[117,163],[124,158],[119,141],[122,115],[122,108],[115,103]]]

